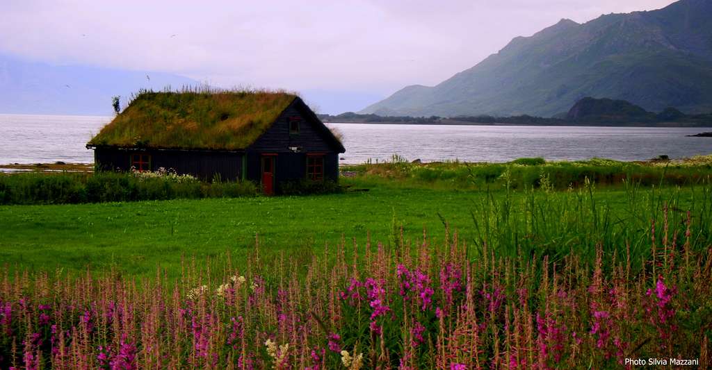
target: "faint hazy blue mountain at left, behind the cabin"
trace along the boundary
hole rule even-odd
[[[199,85],[162,72],[49,65],[0,55],[0,113],[112,115],[111,97],[125,102],[139,89]]]

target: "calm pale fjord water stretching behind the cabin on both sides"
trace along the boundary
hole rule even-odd
[[[0,164],[91,163],[85,144],[112,117],[0,114]],[[700,127],[437,126],[328,124],[343,134],[341,163],[390,160],[504,162],[522,157],[644,160],[712,153]]]

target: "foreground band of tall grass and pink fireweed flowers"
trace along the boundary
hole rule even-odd
[[[446,229],[389,244],[345,241],[248,263],[0,273],[0,368],[610,369],[626,359],[710,360],[710,187],[690,212],[640,199],[629,232],[588,185],[528,212],[473,209],[476,241]],[[568,207],[567,207],[568,206]],[[573,240],[572,240],[573,239]],[[638,240],[639,239],[639,240]]]

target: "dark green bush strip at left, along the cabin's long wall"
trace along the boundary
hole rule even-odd
[[[251,182],[201,183],[174,175],[114,172],[0,175],[1,205],[243,197],[257,192]]]

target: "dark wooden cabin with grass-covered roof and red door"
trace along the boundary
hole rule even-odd
[[[89,141],[101,170],[172,168],[202,180],[336,182],[345,149],[283,92],[143,92]]]

